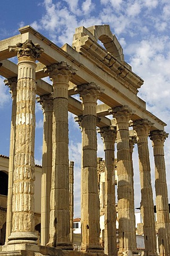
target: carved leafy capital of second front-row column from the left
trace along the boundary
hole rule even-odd
[[[44,71],[48,72],[49,77],[53,80],[53,82],[57,76],[58,81],[66,81],[67,83],[69,83],[71,76],[77,73],[77,69],[73,69],[70,65],[67,65],[66,61],[61,61],[60,63],[53,63],[50,66],[46,66],[44,67]]]

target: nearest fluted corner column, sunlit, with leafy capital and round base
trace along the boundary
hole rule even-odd
[[[43,49],[31,40],[9,46],[18,53],[13,221],[8,244],[37,244],[34,221],[36,59]],[[16,247],[15,247],[16,248]]]

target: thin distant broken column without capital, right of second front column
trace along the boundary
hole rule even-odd
[[[70,195],[70,241],[73,244],[73,216],[74,216],[74,162],[69,164],[69,195]]]

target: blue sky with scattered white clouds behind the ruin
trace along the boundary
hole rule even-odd
[[[170,2],[169,0],[5,0],[1,1],[0,40],[19,34],[18,28],[31,25],[58,46],[72,44],[75,28],[109,24],[121,43],[125,61],[145,83],[138,96],[147,109],[162,119],[170,133]],[[11,95],[0,77],[0,154],[8,155],[10,143]],[[43,115],[36,106],[36,163],[41,163]],[[81,134],[73,115],[69,115],[70,160],[75,162],[75,217],[80,217]],[[149,141],[151,174],[154,161]],[[98,137],[98,156],[104,157]],[[168,191],[170,193],[170,146],[165,142]],[[137,147],[134,149],[135,206],[140,204]],[[154,186],[154,183],[153,183]],[[154,187],[153,187],[154,190]],[[169,194],[170,197],[170,194]],[[169,199],[170,201],[170,199]]]

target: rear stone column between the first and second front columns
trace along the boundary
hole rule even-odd
[[[44,115],[43,159],[41,178],[41,245],[49,241],[50,190],[52,180],[52,128],[53,128],[53,94],[37,98],[42,105]]]

